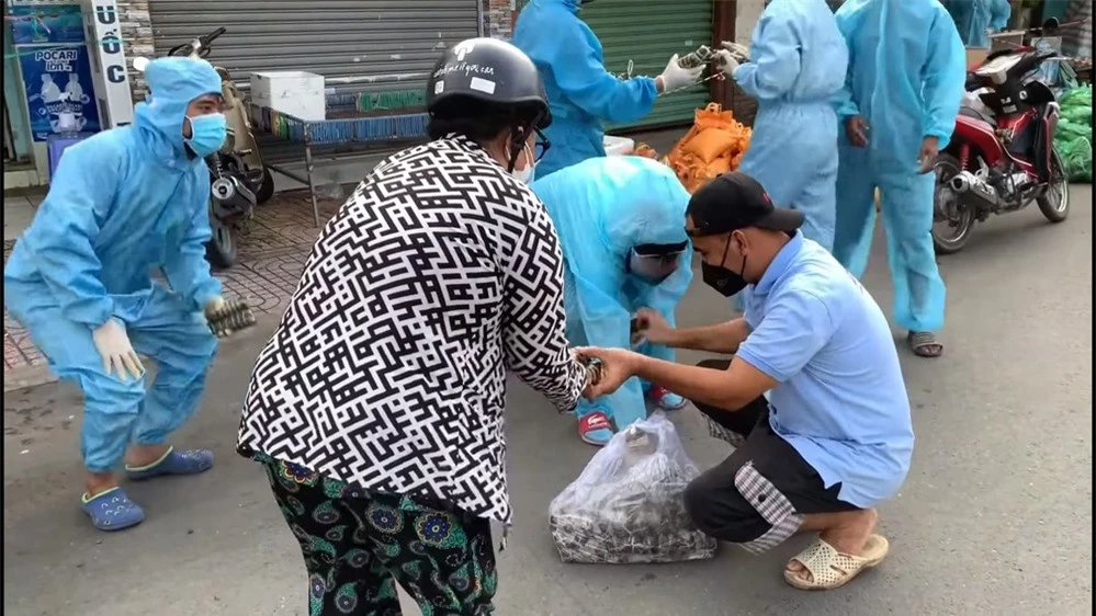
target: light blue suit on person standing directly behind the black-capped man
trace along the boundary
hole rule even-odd
[[[734,79],[757,100],[739,170],[783,207],[803,212],[803,235],[832,250],[837,116],[848,48],[825,0],[772,0],[754,28],[750,61]]]

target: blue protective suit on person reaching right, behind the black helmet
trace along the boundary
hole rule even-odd
[[[544,80],[552,147],[536,166],[544,178],[588,158],[603,157],[602,122],[635,122],[651,113],[655,80],[621,80],[606,71],[601,42],[578,19],[579,0],[531,0],[518,16],[512,43]]]

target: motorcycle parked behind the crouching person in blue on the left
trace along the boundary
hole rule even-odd
[[[212,50],[213,41],[225,32],[224,27],[218,27],[172,47],[168,55],[204,59]],[[239,233],[255,214],[255,207],[273,196],[274,179],[262,163],[236,82],[224,67],[214,68],[221,76],[228,135],[221,150],[205,158],[210,168],[210,227],[213,230],[205,254],[211,265],[223,270],[236,263]]]

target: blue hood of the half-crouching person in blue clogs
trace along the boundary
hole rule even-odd
[[[148,62],[145,79],[151,94],[137,103],[137,134],[149,153],[168,167],[180,169],[193,161],[183,147],[182,125],[191,101],[221,95],[221,76],[213,65],[191,58],[159,58]]]

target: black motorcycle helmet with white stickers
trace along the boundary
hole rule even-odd
[[[431,139],[457,133],[483,142],[510,130],[512,171],[531,132],[552,123],[536,66],[513,45],[470,38],[442,55],[427,81]],[[543,150],[546,140],[540,135]]]

